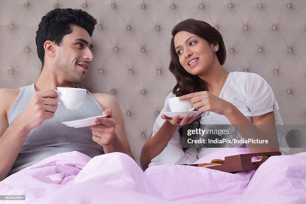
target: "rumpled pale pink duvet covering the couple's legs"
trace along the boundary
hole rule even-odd
[[[195,163],[251,153],[219,149]],[[57,154],[0,182],[0,203],[306,203],[306,152],[270,157],[256,171],[160,165],[143,172],[129,156]]]

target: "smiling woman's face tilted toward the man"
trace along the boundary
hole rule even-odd
[[[174,47],[184,69],[192,75],[201,75],[212,67],[217,58],[215,48],[219,45],[214,46],[195,34],[180,31],[174,36]]]

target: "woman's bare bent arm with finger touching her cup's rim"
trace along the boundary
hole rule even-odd
[[[248,144],[254,153],[278,151],[273,111],[252,116],[252,123],[233,104],[207,91],[190,93],[180,97],[180,100],[185,99],[191,99],[193,107],[200,112],[212,111],[226,116],[244,139],[268,140],[268,144]]]

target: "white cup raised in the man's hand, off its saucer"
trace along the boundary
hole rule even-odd
[[[58,87],[53,90],[58,94],[58,105],[65,109],[80,108],[86,98],[86,89]]]

